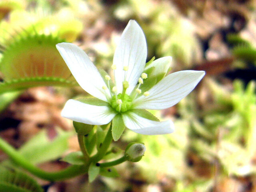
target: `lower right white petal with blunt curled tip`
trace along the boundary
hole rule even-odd
[[[167,121],[152,121],[134,112],[122,114],[124,124],[130,130],[144,135],[160,135],[174,132],[174,124],[171,120]]]

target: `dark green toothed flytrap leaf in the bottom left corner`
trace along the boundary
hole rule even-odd
[[[43,189],[34,179],[18,170],[1,166],[0,173],[0,191],[43,192]]]

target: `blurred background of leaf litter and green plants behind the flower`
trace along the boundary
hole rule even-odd
[[[152,111],[173,120],[174,133],[125,130],[114,146],[144,142],[146,152],[138,163],[116,166],[119,177],[40,185],[47,192],[255,192],[255,0],[1,0],[0,136],[45,170],[66,167],[59,159],[79,145],[60,111],[69,98],[87,95],[55,44],[77,44],[111,73],[130,19],[146,35],[147,60],[172,56],[171,72],[206,76],[180,103]]]

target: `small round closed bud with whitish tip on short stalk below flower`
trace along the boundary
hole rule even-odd
[[[138,162],[144,156],[145,151],[144,143],[132,142],[126,147],[125,155],[128,157],[128,161]]]

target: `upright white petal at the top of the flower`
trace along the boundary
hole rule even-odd
[[[118,44],[113,64],[116,65],[114,71],[117,91],[122,92],[122,82],[129,82],[126,93],[130,94],[142,74],[147,57],[147,45],[144,33],[138,23],[130,20],[122,33]],[[128,66],[128,71],[124,71],[124,66]]]

